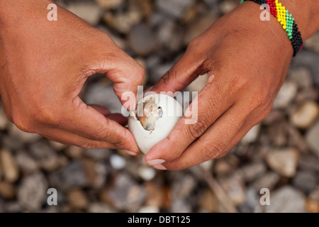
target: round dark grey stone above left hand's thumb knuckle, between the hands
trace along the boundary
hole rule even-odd
[[[149,55],[157,47],[157,38],[146,23],[140,23],[132,28],[128,42],[137,55]]]

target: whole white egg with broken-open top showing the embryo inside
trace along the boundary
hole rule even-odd
[[[128,129],[142,153],[167,138],[183,114],[181,104],[167,94],[150,94],[130,112]]]

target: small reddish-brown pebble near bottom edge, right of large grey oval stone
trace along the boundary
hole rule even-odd
[[[69,206],[76,211],[84,210],[89,206],[89,199],[87,199],[82,189],[69,190],[67,192],[67,200],[69,201]]]

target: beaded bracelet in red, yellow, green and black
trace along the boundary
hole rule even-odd
[[[244,1],[241,0],[240,4]],[[291,13],[288,13],[288,9],[285,6],[281,6],[281,3],[278,0],[248,0],[254,1],[257,4],[267,4],[268,9],[272,15],[277,18],[277,21],[281,23],[282,28],[287,32],[291,44],[293,46],[293,57],[296,56],[299,50],[303,48],[303,39],[301,38],[301,33],[298,31],[298,26],[295,22],[295,18],[291,16]]]

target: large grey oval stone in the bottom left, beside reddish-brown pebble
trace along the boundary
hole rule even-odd
[[[27,211],[39,211],[46,199],[47,180],[41,172],[22,179],[18,187],[18,202]]]

